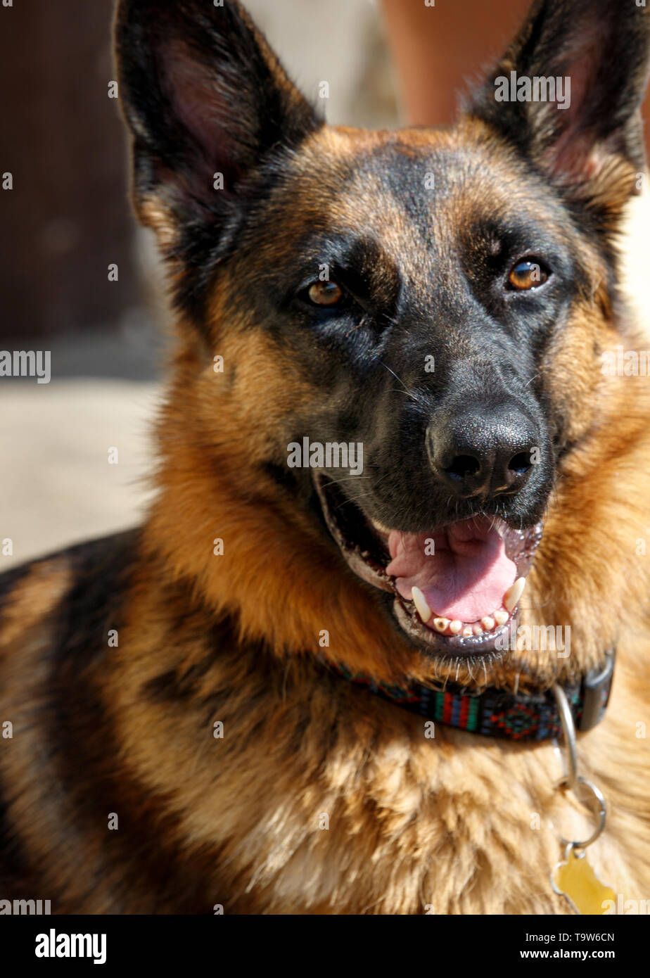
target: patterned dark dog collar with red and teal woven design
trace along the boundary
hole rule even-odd
[[[614,676],[615,649],[605,653],[605,665],[590,670],[581,682],[564,686],[576,730],[585,733],[602,720]],[[412,684],[403,688],[375,683],[345,666],[322,658],[328,669],[370,692],[411,710],[427,720],[469,733],[504,737],[507,740],[549,740],[562,732],[562,724],[550,689],[533,695],[513,695],[501,689],[485,689],[478,694],[450,685],[429,689]]]

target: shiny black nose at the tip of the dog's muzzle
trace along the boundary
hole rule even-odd
[[[516,493],[539,461],[536,424],[518,406],[477,406],[440,417],[427,430],[429,459],[436,475],[456,496]],[[539,451],[539,450],[538,450]]]

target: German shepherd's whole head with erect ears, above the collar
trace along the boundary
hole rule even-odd
[[[648,23],[541,0],[454,129],[368,132],[326,126],[233,0],[122,0],[135,206],[182,336],[168,511],[194,556],[171,517],[161,535],[275,645],[330,630],[370,672],[462,677],[507,659],[529,571],[549,624],[602,599],[562,555],[591,559],[579,473],[621,411],[600,364]],[[223,538],[219,569],[199,537]]]

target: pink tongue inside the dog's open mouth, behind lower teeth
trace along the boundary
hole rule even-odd
[[[517,568],[490,525],[487,519],[468,519],[428,535],[391,530],[386,570],[397,578],[402,597],[411,599],[417,587],[437,617],[466,622],[500,608]]]

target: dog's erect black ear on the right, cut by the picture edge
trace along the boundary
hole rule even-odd
[[[645,163],[649,47],[650,9],[635,0],[536,0],[467,111],[607,225]]]

